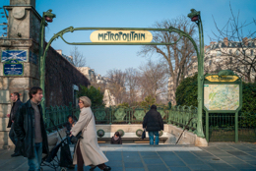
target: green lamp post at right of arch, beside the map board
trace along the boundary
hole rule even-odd
[[[195,9],[190,10],[191,13],[189,13],[187,16],[191,19],[192,22],[195,22],[198,26],[199,30],[199,53],[197,54],[197,60],[198,60],[198,123],[197,123],[197,136],[200,138],[205,138],[205,135],[203,133],[203,126],[202,126],[202,111],[203,111],[203,88],[204,88],[204,32],[203,32],[203,25],[201,21],[200,11],[196,11]]]

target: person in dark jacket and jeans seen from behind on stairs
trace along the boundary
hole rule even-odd
[[[152,105],[151,110],[146,113],[143,121],[143,128],[149,132],[150,144],[154,144],[154,135],[156,136],[156,144],[159,144],[159,131],[163,130],[163,122],[160,112],[157,111],[157,106]]]

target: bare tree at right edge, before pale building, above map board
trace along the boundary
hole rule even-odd
[[[245,82],[256,82],[256,20],[252,19],[251,22],[240,22],[239,12],[237,16],[233,14],[231,5],[229,4],[231,17],[228,19],[223,28],[218,27],[216,21],[215,25],[217,32],[215,34],[215,40],[217,50],[222,54],[222,60],[224,61],[222,66],[220,62],[216,62],[215,65],[219,65],[221,69],[229,69],[234,71],[237,75],[243,78]],[[251,30],[248,27],[254,27]],[[223,42],[220,42],[222,41]],[[219,63],[219,64],[218,64]]]

